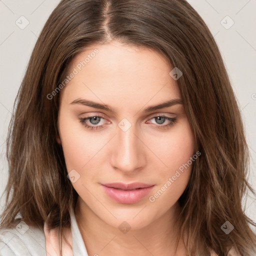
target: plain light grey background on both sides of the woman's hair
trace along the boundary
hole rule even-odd
[[[0,193],[8,176],[5,139],[14,98],[37,36],[58,2],[59,0],[0,0]],[[248,180],[256,189],[256,0],[188,2],[208,25],[224,59],[243,116],[250,150]],[[22,27],[26,22],[29,22],[28,25]],[[256,198],[250,194],[245,202],[247,215],[256,221]],[[2,198],[0,211],[3,206]]]

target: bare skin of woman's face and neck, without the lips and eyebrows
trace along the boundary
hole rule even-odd
[[[95,48],[98,53],[78,70],[77,64]],[[78,193],[74,211],[88,255],[174,255],[177,200],[192,164],[171,185],[167,181],[195,153],[194,137],[182,102],[144,112],[148,106],[181,99],[169,75],[173,67],[153,50],[113,41],[79,53],[70,72],[73,68],[78,73],[60,91],[57,141],[68,172],[79,175],[72,183]],[[108,105],[114,112],[81,104],[80,99]],[[80,122],[98,115],[97,124],[92,118]],[[163,115],[171,119],[157,120]],[[124,131],[120,123],[130,127]],[[102,188],[108,182],[154,187],[135,203],[119,203]],[[154,196],[159,190],[160,195]],[[124,233],[121,223],[130,230]],[[181,240],[175,255],[186,255]]]

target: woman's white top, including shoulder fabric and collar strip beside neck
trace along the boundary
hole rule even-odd
[[[70,212],[73,256],[88,256],[73,210]],[[15,228],[0,229],[0,256],[45,256],[43,228],[20,221]]]

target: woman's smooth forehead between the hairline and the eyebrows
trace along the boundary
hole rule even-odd
[[[116,103],[150,103],[180,97],[172,67],[157,51],[119,42],[91,45],[77,54],[68,73],[75,75],[61,94]],[[70,102],[71,102],[70,101]]]

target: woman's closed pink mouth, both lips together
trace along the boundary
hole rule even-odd
[[[105,183],[101,184],[105,193],[118,203],[135,203],[140,201],[155,184],[146,184],[140,182],[134,183]]]

